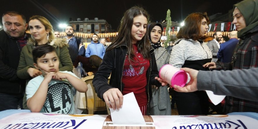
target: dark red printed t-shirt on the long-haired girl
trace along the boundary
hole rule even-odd
[[[136,57],[133,57],[135,62],[131,61],[129,63],[128,55],[125,59],[125,65],[123,69],[122,83],[124,84],[124,89],[122,94],[128,94],[133,92],[136,101],[139,106],[147,105],[147,95],[146,95],[146,85],[147,77],[146,72],[150,67],[150,61],[143,58],[143,55],[138,52],[137,44],[133,44]]]

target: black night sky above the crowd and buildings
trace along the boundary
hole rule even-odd
[[[41,15],[46,17],[54,27],[61,30],[59,23],[68,23],[69,18],[77,19],[95,17],[106,19],[112,29],[117,30],[123,13],[134,5],[140,5],[148,11],[152,22],[161,22],[171,11],[172,21],[179,23],[193,12],[227,13],[233,4],[241,0],[2,0],[0,14],[5,11],[18,11],[26,16]],[[1,25],[2,26],[2,25]]]

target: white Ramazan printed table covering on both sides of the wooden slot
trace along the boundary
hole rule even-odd
[[[30,113],[29,110],[7,110],[0,112],[1,129],[102,129],[108,115]],[[257,128],[258,113],[230,113],[207,116],[151,116],[155,129],[194,128]]]

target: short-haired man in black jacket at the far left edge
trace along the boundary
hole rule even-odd
[[[9,11],[2,16],[0,30],[0,111],[22,108],[25,81],[16,75],[20,52],[27,43],[28,26],[22,14]]]

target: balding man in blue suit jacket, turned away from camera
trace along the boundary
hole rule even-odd
[[[223,63],[231,62],[234,49],[239,42],[237,39],[237,31],[230,32],[228,38],[230,38],[230,40],[220,45],[220,49],[217,54],[218,59]]]

